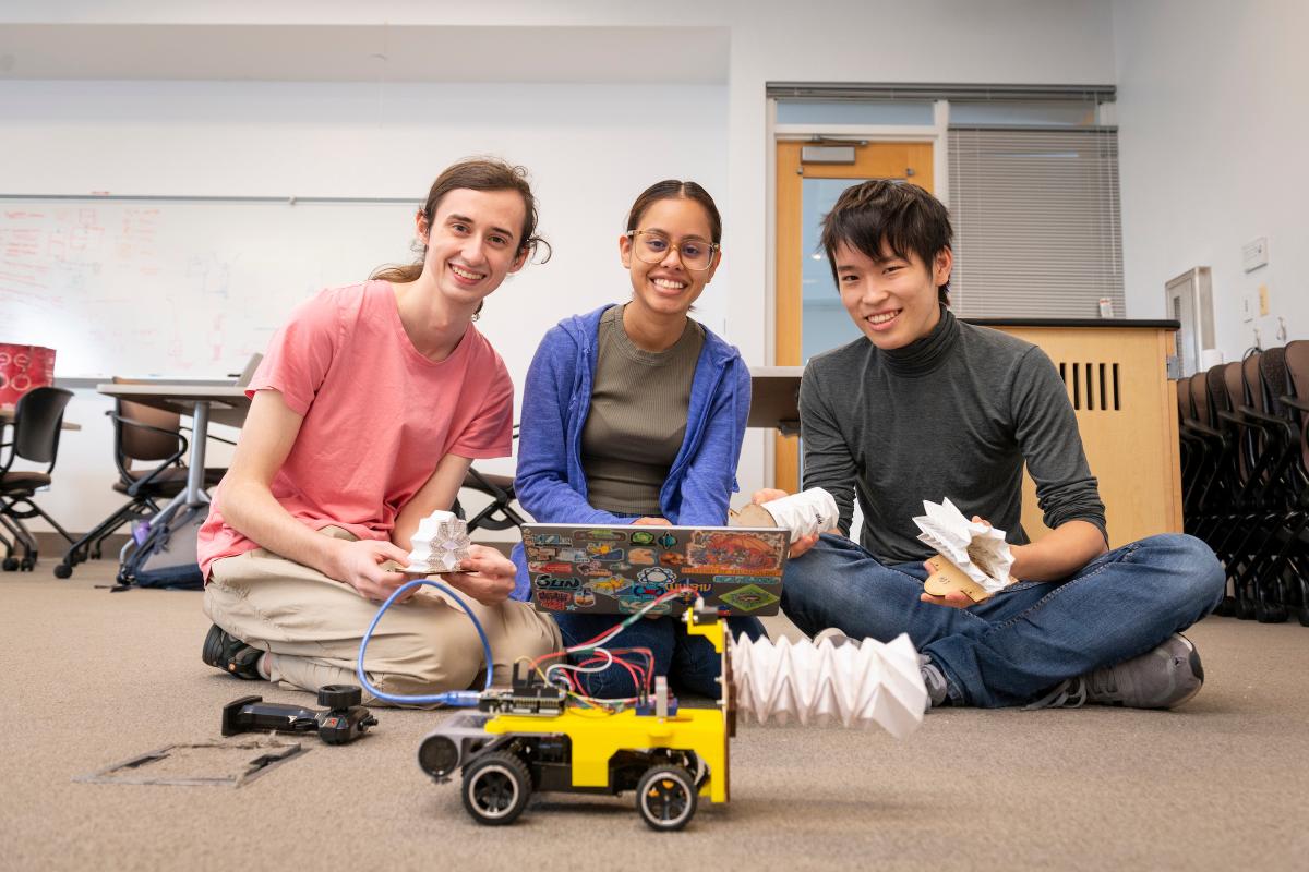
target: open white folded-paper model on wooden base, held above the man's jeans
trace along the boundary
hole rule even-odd
[[[923,531],[918,537],[948,561],[937,562],[923,590],[933,596],[961,590],[978,603],[1009,584],[1013,554],[1003,529],[969,520],[949,499],[941,505],[924,499],[923,509],[927,514],[914,519]]]

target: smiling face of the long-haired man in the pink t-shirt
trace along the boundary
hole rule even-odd
[[[419,239],[427,246],[424,277],[454,306],[475,309],[526,261],[520,239],[525,216],[517,191],[450,191],[437,204],[431,227],[421,213],[418,218]]]

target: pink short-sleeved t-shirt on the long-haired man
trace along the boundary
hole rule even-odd
[[[280,391],[304,416],[272,495],[297,520],[390,536],[395,516],[448,454],[505,458],[513,383],[471,324],[435,363],[401,324],[390,282],[331,288],[301,305],[272,337],[246,388]],[[206,579],[216,560],[258,545],[223,520],[223,485],[200,528]]]

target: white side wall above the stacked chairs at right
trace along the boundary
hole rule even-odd
[[[1114,4],[1127,314],[1165,316],[1164,282],[1212,267],[1225,360],[1309,336],[1309,5],[1300,0]],[[1267,237],[1267,267],[1241,247]],[[1242,320],[1268,289],[1270,315]],[[1172,316],[1172,315],[1168,315]]]

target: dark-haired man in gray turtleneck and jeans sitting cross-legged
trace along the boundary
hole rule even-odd
[[[1037,346],[954,318],[950,238],[945,207],[912,184],[855,186],[823,220],[864,337],[813,358],[801,380],[804,485],[829,490],[840,518],[792,548],[783,609],[838,642],[908,633],[933,706],[1181,705],[1204,673],[1178,630],[1221,600],[1223,567],[1191,536],[1107,549],[1059,374]],[[1020,522],[1024,463],[1051,529],[1034,544]],[[847,539],[856,495],[859,544]],[[1007,531],[1016,580],[983,603],[923,591],[933,552],[912,518],[942,498]]]

